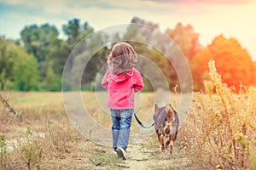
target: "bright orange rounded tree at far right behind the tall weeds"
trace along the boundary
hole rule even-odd
[[[215,60],[218,74],[222,75],[223,82],[233,87],[236,92],[240,85],[251,86],[255,83],[253,77],[255,68],[247,50],[242,48],[235,38],[227,39],[220,35],[191,60],[196,90],[202,89],[202,81],[208,79],[206,67],[209,59]]]

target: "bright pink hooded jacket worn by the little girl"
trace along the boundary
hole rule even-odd
[[[109,109],[134,109],[134,94],[143,89],[143,77],[137,69],[119,75],[110,68],[102,79],[102,87],[108,89]]]

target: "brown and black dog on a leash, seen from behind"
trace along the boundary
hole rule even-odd
[[[172,105],[161,108],[156,104],[154,105],[154,129],[158,136],[160,150],[165,150],[169,146],[172,154],[173,143],[177,139],[178,126],[177,112],[174,111]]]

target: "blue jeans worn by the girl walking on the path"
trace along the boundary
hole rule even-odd
[[[130,127],[133,109],[114,110],[111,109],[113,150],[118,147],[126,150],[130,138]]]

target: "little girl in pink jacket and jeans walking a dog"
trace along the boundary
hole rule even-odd
[[[108,55],[108,65],[111,68],[102,79],[102,87],[108,89],[107,107],[113,122],[113,150],[123,160],[130,137],[134,94],[144,86],[143,77],[134,68],[136,63],[137,54],[131,45],[118,42]]]

